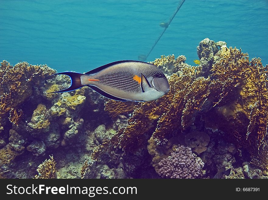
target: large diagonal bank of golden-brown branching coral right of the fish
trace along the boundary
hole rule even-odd
[[[180,134],[195,124],[198,117],[205,121],[206,128],[230,134],[232,142],[249,151],[253,163],[268,169],[268,65],[263,67],[259,58],[249,61],[248,54],[227,48],[224,42],[212,46],[201,45],[199,52],[201,60],[207,53],[211,57],[203,60],[207,78],[199,74],[203,65],[200,68],[181,65],[180,71],[168,78],[170,92],[158,100],[135,106],[128,125],[98,146],[92,157],[97,159],[115,148],[134,152],[151,134],[158,144],[163,144],[175,133]],[[174,56],[162,56],[153,63],[170,69],[178,64]]]

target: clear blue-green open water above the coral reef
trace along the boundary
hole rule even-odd
[[[86,72],[147,54],[179,1],[0,0],[0,59],[27,61],[58,71]],[[147,61],[162,54],[198,59],[208,37],[241,47],[268,64],[267,0],[185,0]]]

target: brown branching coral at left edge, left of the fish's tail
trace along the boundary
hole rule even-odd
[[[20,62],[13,67],[7,61],[2,61],[0,67],[0,120],[10,112],[10,121],[18,124],[22,117],[22,112],[18,110],[18,107],[32,95],[33,85],[53,73],[55,70],[47,65],[30,65],[27,62]]]

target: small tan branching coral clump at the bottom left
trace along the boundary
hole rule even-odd
[[[50,159],[46,159],[37,167],[38,175],[35,175],[34,178],[49,179],[56,177],[56,162],[53,156],[49,156]]]

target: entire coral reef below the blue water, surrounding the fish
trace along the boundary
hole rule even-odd
[[[107,100],[88,87],[44,94],[67,88],[69,77],[41,82],[55,70],[3,61],[0,176],[33,177],[53,154],[57,173],[51,157],[36,177],[212,178],[225,167],[224,178],[267,178],[268,65],[208,38],[197,54],[198,66],[182,55],[151,62],[170,92],[139,103]]]

